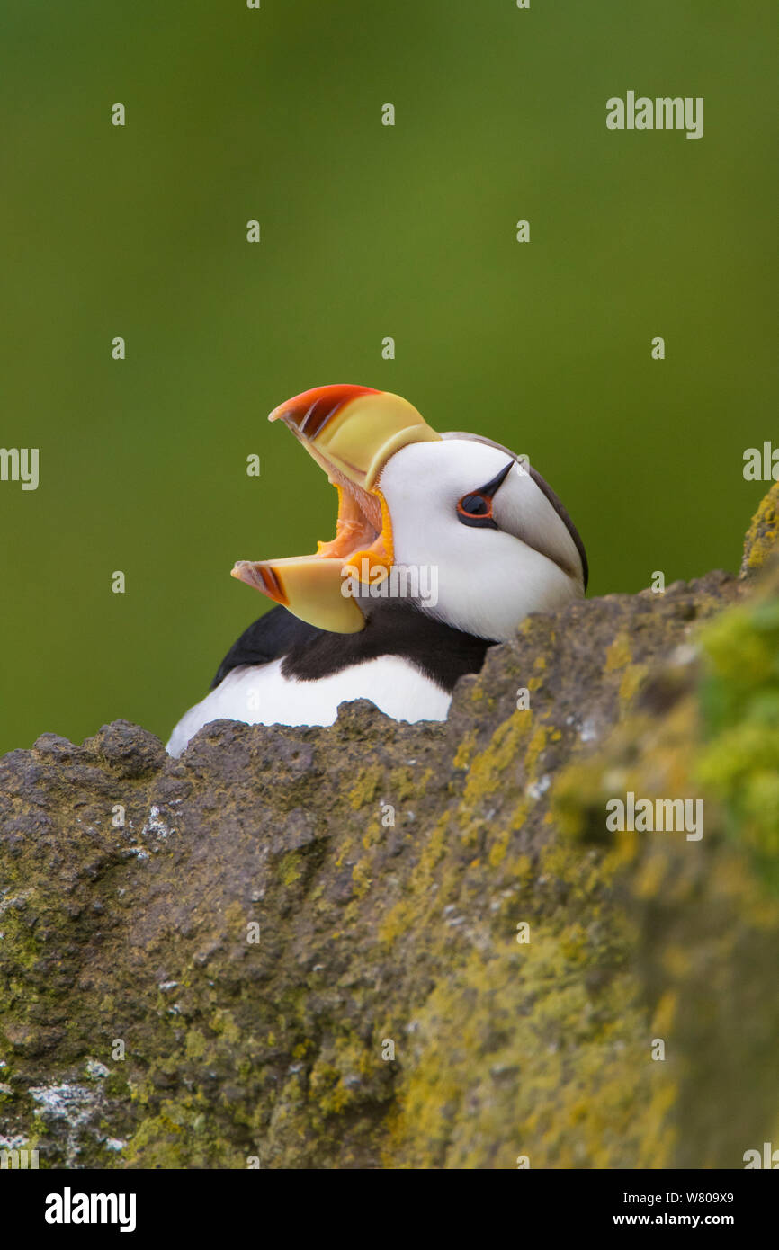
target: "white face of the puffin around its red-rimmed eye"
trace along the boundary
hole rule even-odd
[[[379,489],[393,525],[394,562],[438,570],[438,602],[420,608],[479,638],[513,638],[528,612],[584,594],[581,560],[563,519],[516,462],[491,505],[496,528],[460,519],[458,502],[510,464],[468,438],[413,442],[391,456]]]

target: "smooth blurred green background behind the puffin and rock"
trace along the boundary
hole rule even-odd
[[[333,532],[265,421],[324,382],[526,452],[590,592],[738,568],[743,452],[778,432],[775,0],[4,0],[0,26],[0,445],[41,475],[0,482],[0,750],[166,736],[205,692],[265,608],[234,560]],[[629,89],[704,96],[704,138],[608,131]]]

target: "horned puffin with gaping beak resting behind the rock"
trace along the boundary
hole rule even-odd
[[[314,555],[239,560],[276,608],[228,651],[175,726],[178,756],[213,720],[330,725],[369,699],[395,720],[444,720],[458,678],[528,612],[586,590],[584,545],[536,470],[475,434],[436,434],[370,386],[318,386],[280,420],[338,491],[335,538]]]

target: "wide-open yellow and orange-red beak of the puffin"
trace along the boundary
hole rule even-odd
[[[365,626],[348,578],[381,581],[393,565],[393,526],[376,482],[395,451],[440,439],[416,409],[391,391],[369,386],[316,386],[280,404],[284,421],[338,490],[335,538],[315,555],[239,560],[233,576],[284,604],[295,616],[336,634]]]

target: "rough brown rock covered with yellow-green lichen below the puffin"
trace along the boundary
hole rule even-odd
[[[778,490],[740,578],[530,616],[444,724],[5,756],[0,1148],[743,1166],[779,1130]],[[705,835],[609,832],[628,790]]]

